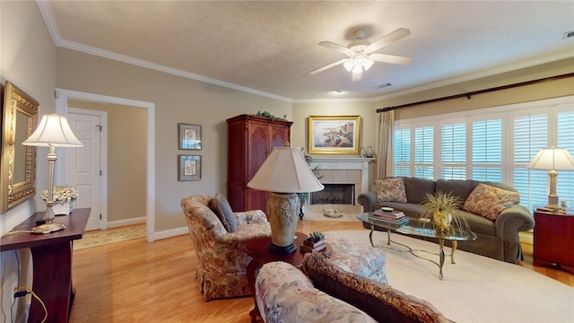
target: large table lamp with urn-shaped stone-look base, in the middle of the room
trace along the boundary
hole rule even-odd
[[[297,147],[274,147],[261,168],[248,182],[248,188],[271,192],[267,211],[271,223],[271,245],[275,254],[291,254],[299,220],[297,193],[317,192],[325,188],[309,168]]]

